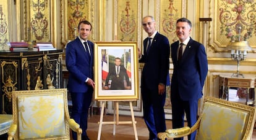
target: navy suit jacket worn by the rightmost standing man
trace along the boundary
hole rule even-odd
[[[180,61],[177,61],[178,48],[179,41],[171,44],[171,58],[174,66],[171,98],[179,93],[184,101],[199,99],[202,97],[203,84],[208,72],[205,47],[190,38]]]

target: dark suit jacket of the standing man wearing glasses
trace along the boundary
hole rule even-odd
[[[148,38],[144,39],[144,53],[139,60],[140,63],[145,63],[142,70],[142,88],[147,86],[156,90],[158,89],[158,84],[166,85],[166,79],[169,76],[170,46],[168,38],[160,33],[156,33],[148,52],[145,51],[147,42]]]

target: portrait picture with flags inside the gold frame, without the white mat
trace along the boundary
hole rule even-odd
[[[103,54],[103,90],[130,90],[129,50],[103,50]]]

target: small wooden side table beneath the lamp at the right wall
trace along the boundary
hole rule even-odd
[[[220,98],[229,100],[229,88],[247,88],[246,99],[239,99],[239,103],[244,102],[247,105],[255,106],[255,92],[252,98],[249,98],[250,88],[256,87],[255,76],[245,75],[244,77],[231,77],[231,75],[220,76]]]

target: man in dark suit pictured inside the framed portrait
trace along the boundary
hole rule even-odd
[[[115,58],[114,64],[106,77],[105,90],[129,90],[130,80],[126,68],[121,65],[121,58]]]

